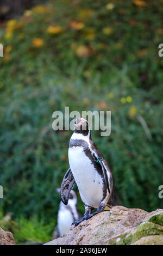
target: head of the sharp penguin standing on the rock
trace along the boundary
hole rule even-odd
[[[90,132],[90,124],[84,118],[77,117],[74,119],[74,132],[82,133],[87,136]]]

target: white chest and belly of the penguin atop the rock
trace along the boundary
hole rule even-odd
[[[101,175],[84,153],[83,147],[69,148],[68,160],[83,202],[93,208],[98,208],[103,199]]]

